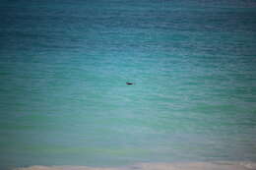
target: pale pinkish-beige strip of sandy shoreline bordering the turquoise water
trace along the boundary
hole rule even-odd
[[[138,163],[123,167],[89,166],[39,166],[15,168],[14,170],[256,170],[256,162],[214,161],[186,163]]]

